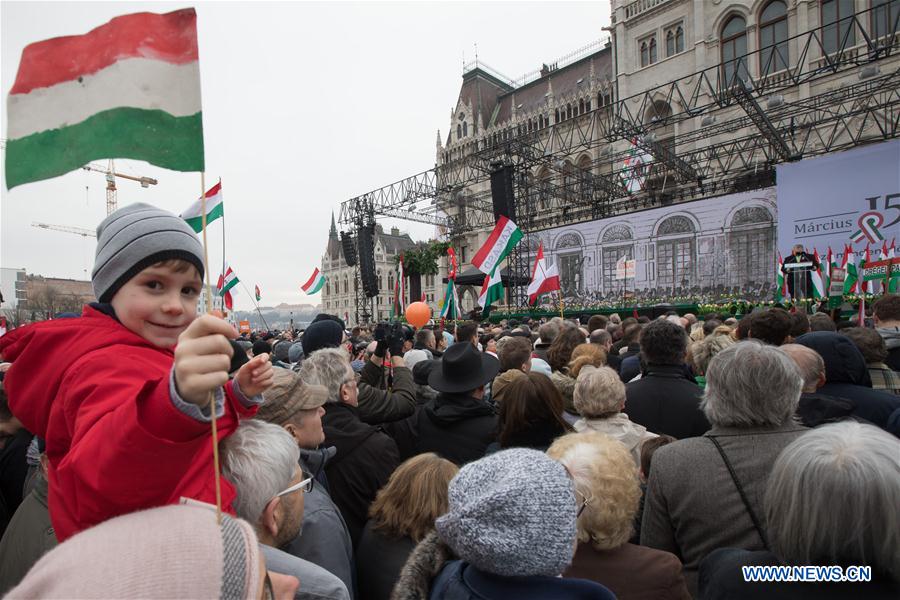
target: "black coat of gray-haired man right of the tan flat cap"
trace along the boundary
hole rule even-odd
[[[369,518],[369,505],[400,464],[397,445],[380,428],[359,419],[356,408],[340,402],[325,405],[325,445],[337,455],[325,465],[331,499],[341,511],[353,547]]]

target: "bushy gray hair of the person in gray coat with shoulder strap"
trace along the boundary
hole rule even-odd
[[[720,427],[779,426],[793,418],[802,388],[800,370],[787,354],[745,340],[709,362],[701,406]]]

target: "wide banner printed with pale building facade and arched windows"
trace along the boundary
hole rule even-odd
[[[603,303],[771,298],[775,188],[534,232],[556,264],[563,297]]]

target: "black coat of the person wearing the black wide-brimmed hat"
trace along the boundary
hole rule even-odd
[[[439,393],[409,419],[392,423],[387,431],[406,460],[435,452],[458,465],[484,456],[497,436],[497,415],[483,400],[466,394]]]

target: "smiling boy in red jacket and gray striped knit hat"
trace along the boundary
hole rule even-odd
[[[99,302],[81,318],[0,337],[13,362],[10,409],[46,440],[60,541],[181,497],[214,503],[209,393],[221,440],[255,414],[272,379],[261,355],[229,381],[236,332],[197,317],[203,247],[175,215],[147,204],[109,215],[97,228],[91,281]],[[234,497],[223,479],[224,510],[233,513]]]

